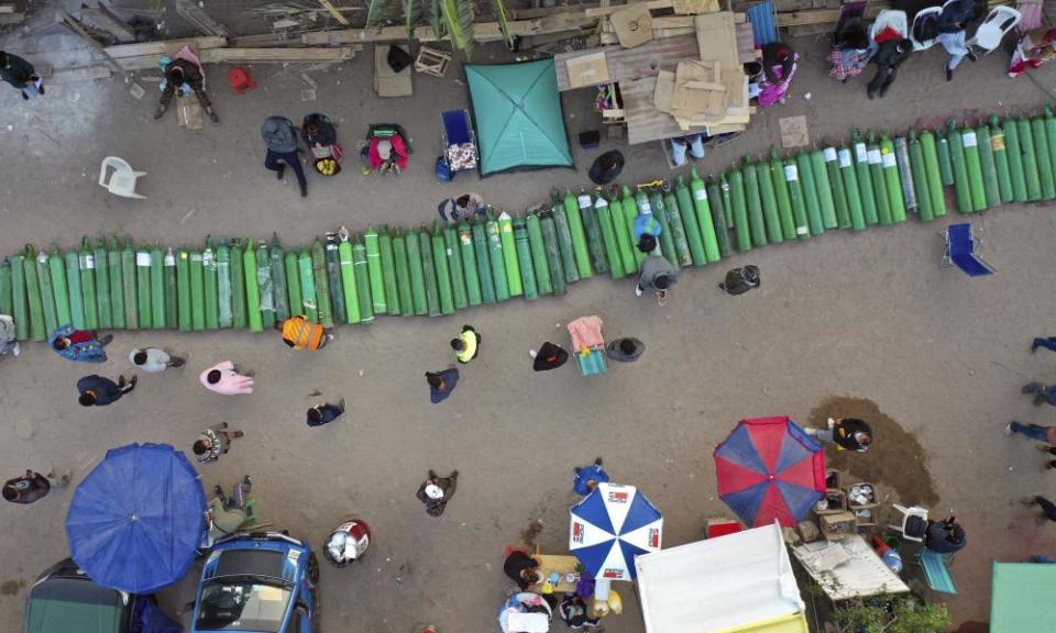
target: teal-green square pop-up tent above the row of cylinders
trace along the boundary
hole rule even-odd
[[[482,176],[517,167],[572,166],[553,59],[464,68]]]

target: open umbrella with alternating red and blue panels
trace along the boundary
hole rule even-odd
[[[752,528],[794,528],[825,496],[825,452],[788,418],[741,420],[715,447],[718,497]]]

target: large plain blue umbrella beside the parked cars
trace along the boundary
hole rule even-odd
[[[183,578],[206,528],[198,473],[167,444],[129,444],[77,487],[66,515],[74,562],[92,580],[151,593]]]

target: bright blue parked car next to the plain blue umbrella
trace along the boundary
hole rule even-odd
[[[316,633],[319,562],[311,546],[279,532],[232,534],[206,559],[194,633]]]

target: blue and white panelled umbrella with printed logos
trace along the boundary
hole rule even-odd
[[[660,549],[663,517],[634,486],[600,484],[571,515],[569,549],[595,578],[634,580],[635,556]]]

